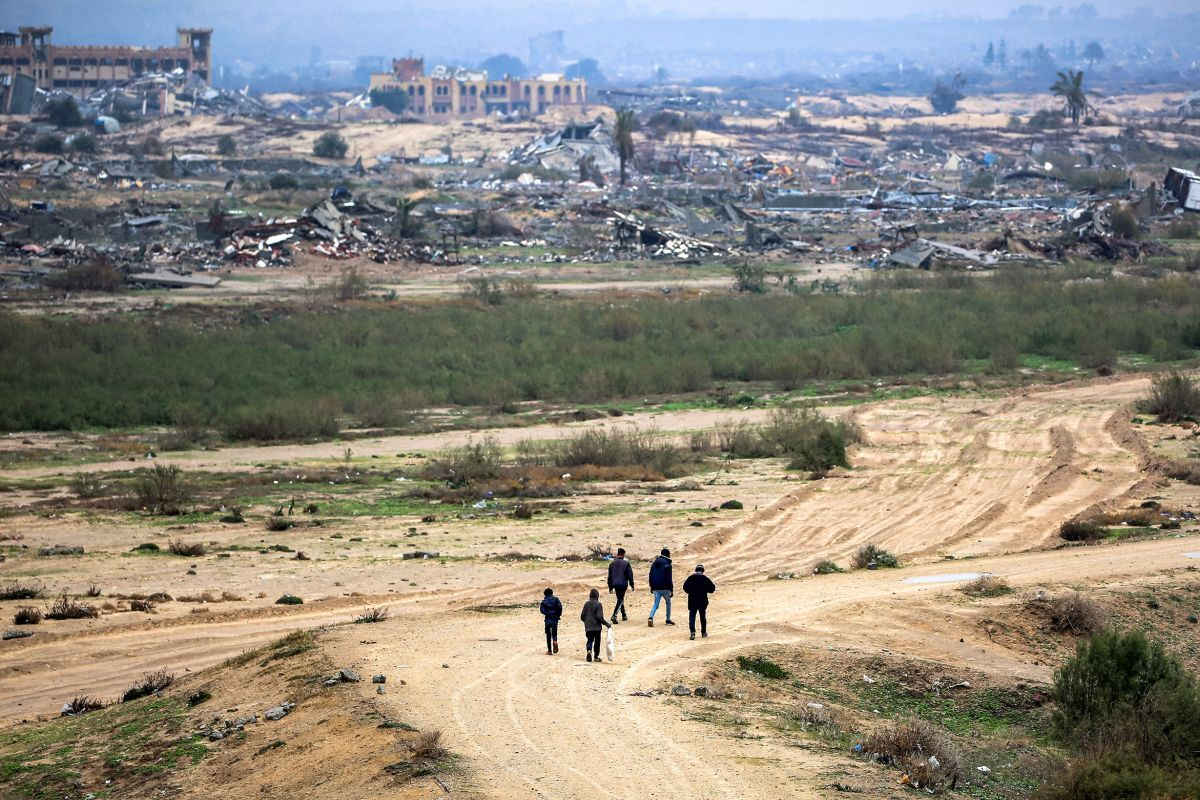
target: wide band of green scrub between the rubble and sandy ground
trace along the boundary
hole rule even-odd
[[[1072,277],[1012,270],[935,278],[919,291],[884,277],[852,295],[364,303],[203,319],[7,314],[0,428],[162,425],[186,413],[233,438],[299,438],[336,432],[340,415],[370,425],[397,407],[1194,356],[1192,279]]]

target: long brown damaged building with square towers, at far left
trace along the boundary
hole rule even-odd
[[[211,28],[178,28],[174,47],[54,44],[53,34],[46,25],[0,31],[0,110],[17,113],[34,89],[84,94],[176,71],[208,83],[212,70]]]

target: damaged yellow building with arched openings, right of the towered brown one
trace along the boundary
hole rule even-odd
[[[425,59],[395,59],[391,72],[371,76],[372,90],[408,95],[404,114],[430,121],[476,119],[491,114],[544,114],[554,106],[583,106],[588,84],[582,78],[542,74],[536,78],[491,78],[482,70],[434,67]]]

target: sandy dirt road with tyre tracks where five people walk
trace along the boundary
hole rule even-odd
[[[853,470],[805,483],[677,552],[677,583],[703,560],[720,585],[709,639],[689,642],[684,625],[646,627],[648,601],[638,593],[630,603],[631,624],[617,628],[618,663],[588,664],[581,658],[577,614],[586,588],[602,578],[590,567],[563,569],[554,581],[568,602],[565,646],[550,657],[541,651],[532,608],[466,610],[479,603],[536,602],[545,575],[514,570],[505,581],[494,572],[482,579],[468,561],[448,565],[463,578],[452,590],[344,601],[360,607],[388,600],[395,619],[368,628],[370,638],[361,626],[336,628],[331,655],[364,672],[407,680],[385,702],[396,703],[397,718],[446,732],[451,748],[467,757],[461,788],[478,796],[820,796],[817,787],[844,771],[845,760],[832,763],[809,751],[785,754],[754,740],[718,740],[712,727],[685,718],[670,700],[630,692],[679,676],[698,679],[714,660],[784,644],[860,654],[888,649],[1045,680],[1046,666],[979,640],[970,612],[938,600],[948,585],[938,576],[995,572],[1018,588],[1118,584],[1194,564],[1184,553],[1200,547],[1186,537],[1036,549],[1063,519],[1136,493],[1144,476],[1122,409],[1145,386],[1145,379],[1123,378],[997,398],[923,397],[859,407],[853,415],[870,445],[856,452]],[[683,429],[712,421],[710,415],[670,419],[660,425]],[[502,433],[524,437],[530,429]],[[374,446],[432,444],[382,440]],[[258,449],[242,457],[314,457],[324,455],[322,447]],[[223,457],[196,456],[209,468]],[[768,579],[806,573],[826,557],[845,563],[869,541],[900,553],[911,566]],[[941,560],[946,555],[956,559]],[[935,582],[910,581],[923,576]],[[678,606],[674,615],[685,624]],[[0,650],[0,698],[26,696],[41,706],[64,691],[127,682],[136,664],[194,669],[286,627],[347,616],[348,606],[314,606],[296,615],[248,614],[227,626],[186,619],[157,628],[134,625],[82,636],[70,646],[67,639],[31,640]],[[0,716],[25,714],[28,706],[0,699]]]

